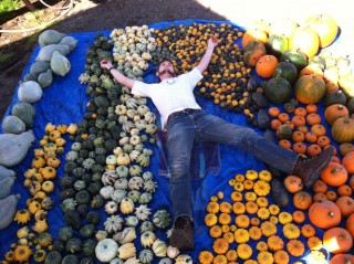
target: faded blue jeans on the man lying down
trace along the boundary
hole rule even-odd
[[[183,112],[170,114],[166,128],[170,165],[169,192],[175,219],[180,215],[192,217],[189,165],[195,140],[215,141],[244,149],[289,175],[292,173],[299,159],[295,152],[270,142],[253,129],[205,114],[202,109],[191,114]]]

